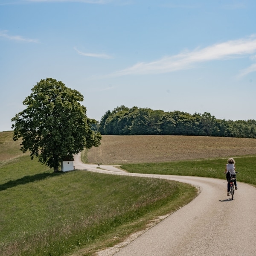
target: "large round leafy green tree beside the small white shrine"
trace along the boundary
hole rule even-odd
[[[23,101],[26,109],[12,118],[13,140],[22,138],[20,150],[58,172],[60,162],[84,148],[100,145],[101,135],[91,129],[96,120],[86,116],[79,102],[84,97],[61,81],[43,79]]]

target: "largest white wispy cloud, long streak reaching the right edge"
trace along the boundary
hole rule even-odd
[[[173,56],[166,56],[157,61],[140,62],[132,67],[116,71],[110,76],[125,76],[134,74],[160,74],[177,70],[186,70],[195,67],[196,64],[206,61],[226,60],[242,58],[256,52],[256,38],[243,38],[214,44],[203,49],[181,52]]]

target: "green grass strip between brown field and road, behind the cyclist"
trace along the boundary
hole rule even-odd
[[[236,160],[236,171],[238,181],[256,185],[256,156],[234,157]],[[161,175],[185,175],[212,177],[226,179],[224,175],[227,158],[212,160],[187,160],[169,163],[144,163],[125,164],[122,169],[128,172],[161,174]]]

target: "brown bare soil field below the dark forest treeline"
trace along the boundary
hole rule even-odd
[[[103,135],[87,150],[88,163],[157,163],[256,154],[256,139],[200,136]]]

